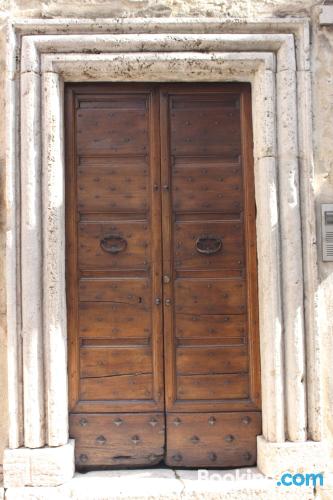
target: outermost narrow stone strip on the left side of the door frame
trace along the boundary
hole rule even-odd
[[[18,44],[7,26],[6,47],[6,308],[7,308],[7,382],[8,441],[11,448],[23,444],[22,342],[20,300],[20,159],[19,159],[19,77],[16,55]]]

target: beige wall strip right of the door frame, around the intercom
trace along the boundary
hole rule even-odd
[[[325,424],[333,439],[333,262],[321,261],[320,203],[333,203],[333,26],[313,29],[313,125]]]

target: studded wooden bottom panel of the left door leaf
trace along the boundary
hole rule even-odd
[[[156,465],[164,458],[163,413],[71,414],[78,468]]]

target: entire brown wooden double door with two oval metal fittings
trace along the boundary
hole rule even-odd
[[[261,433],[251,89],[65,88],[78,467],[232,467]]]

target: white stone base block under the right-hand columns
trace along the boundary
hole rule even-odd
[[[324,441],[270,443],[257,437],[257,464],[268,477],[279,478],[284,472],[319,473],[328,470],[328,448]]]

